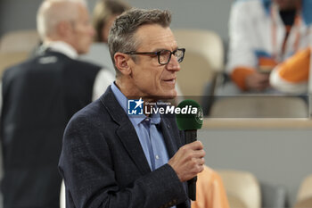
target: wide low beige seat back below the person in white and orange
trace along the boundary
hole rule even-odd
[[[294,96],[221,97],[212,105],[211,118],[308,118],[308,105]]]

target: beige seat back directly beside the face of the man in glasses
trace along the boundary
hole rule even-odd
[[[185,47],[185,59],[177,73],[184,96],[203,96],[204,87],[224,70],[222,39],[213,31],[174,29],[177,46]]]

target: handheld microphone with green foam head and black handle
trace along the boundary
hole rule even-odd
[[[186,113],[176,114],[177,127],[180,130],[185,131],[185,143],[189,144],[197,140],[197,129],[201,129],[202,126],[202,110],[201,105],[193,100],[185,100],[177,105],[180,109],[192,108],[197,109],[194,111],[185,111]],[[182,111],[183,112],[183,111]],[[187,181],[188,196],[191,200],[196,200],[196,181],[197,176]]]

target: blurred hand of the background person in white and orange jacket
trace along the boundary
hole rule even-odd
[[[263,91],[269,87],[269,74],[255,72],[250,74],[245,79],[245,84],[248,90]]]

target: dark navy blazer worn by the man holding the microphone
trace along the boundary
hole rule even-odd
[[[169,157],[185,144],[174,116],[161,118]],[[59,169],[67,208],[190,207],[185,183],[165,164],[151,171],[135,128],[108,87],[76,113],[64,137]]]

